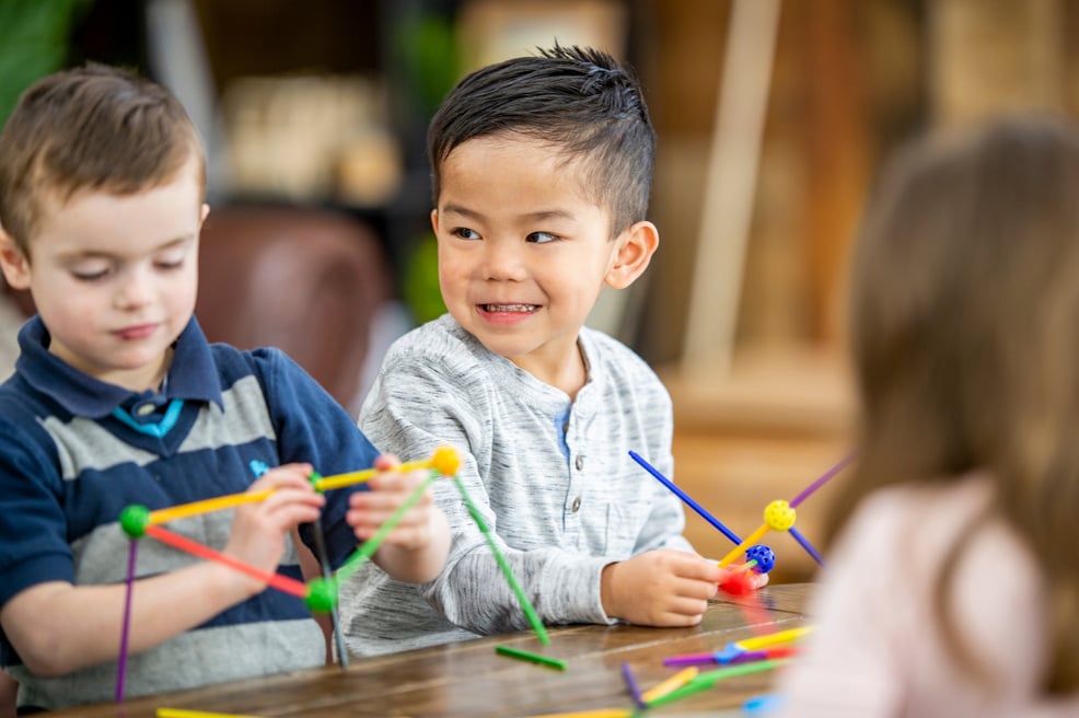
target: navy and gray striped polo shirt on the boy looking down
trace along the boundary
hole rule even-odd
[[[37,317],[19,340],[16,373],[0,386],[0,606],[45,581],[124,581],[129,544],[117,518],[126,506],[154,510],[241,493],[262,468],[283,463],[310,462],[329,475],[370,466],[376,455],[348,414],[282,352],[209,345],[194,319],[175,345],[161,392],[132,393],[74,370],[48,352],[48,333]],[[356,548],[345,522],[347,493],[328,493],[323,514],[335,566]],[[231,524],[228,510],[166,528],[221,549]],[[146,537],[137,575],[195,560]],[[294,546],[279,570],[301,578]],[[78,705],[109,699],[115,691],[115,663],[38,679],[2,633],[0,658],[20,681],[24,705]],[[303,602],[267,590],[131,656],[127,692],[177,690],[324,660],[323,634]]]

